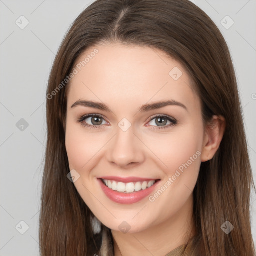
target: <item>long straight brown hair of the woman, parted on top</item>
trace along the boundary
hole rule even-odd
[[[66,34],[47,88],[41,255],[113,255],[110,229],[103,226],[98,236],[93,234],[93,214],[67,178],[70,169],[65,149],[65,79],[84,50],[104,41],[166,52],[191,76],[201,99],[204,123],[213,114],[224,116],[226,128],[220,147],[210,161],[201,163],[193,191],[199,238],[198,250],[191,255],[199,251],[198,255],[206,256],[255,255],[250,223],[250,192],[255,186],[232,60],[217,26],[188,0],[96,0]],[[225,221],[234,226],[228,234],[221,230]]]

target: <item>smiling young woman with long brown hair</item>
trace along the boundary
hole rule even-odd
[[[193,3],[93,2],[54,61],[47,127],[42,256],[255,255],[235,73]]]

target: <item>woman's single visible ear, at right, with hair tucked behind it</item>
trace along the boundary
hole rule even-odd
[[[218,150],[225,127],[226,121],[222,115],[213,115],[206,124],[201,154],[202,162],[210,160]]]

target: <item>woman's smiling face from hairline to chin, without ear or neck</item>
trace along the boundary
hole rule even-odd
[[[121,44],[91,47],[76,64],[65,145],[84,202],[117,231],[184,217],[204,143],[187,72],[163,51]]]

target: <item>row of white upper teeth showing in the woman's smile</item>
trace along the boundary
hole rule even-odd
[[[111,188],[114,191],[124,192],[124,193],[132,193],[134,191],[145,190],[146,188],[152,186],[155,183],[155,180],[150,181],[141,181],[141,182],[116,182],[114,180],[103,179],[104,184]]]

